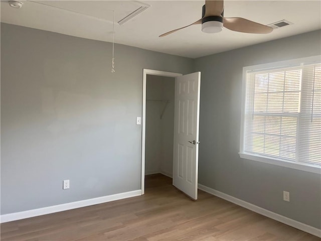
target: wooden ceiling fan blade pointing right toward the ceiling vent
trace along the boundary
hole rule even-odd
[[[232,31],[250,34],[268,34],[273,31],[271,27],[243,18],[224,18],[223,26]]]

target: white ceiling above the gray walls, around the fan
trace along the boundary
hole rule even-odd
[[[115,42],[197,58],[321,28],[321,1],[225,1],[225,17],[242,17],[268,25],[293,25],[267,35],[224,29],[206,34],[194,25],[163,38],[159,35],[199,20],[205,1],[20,1],[21,9],[1,1],[1,22],[87,39],[112,42],[112,19],[118,22],[140,6],[150,6],[123,25],[115,24]]]

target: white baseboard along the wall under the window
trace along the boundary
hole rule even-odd
[[[254,204],[251,204],[249,202],[246,202],[246,201],[243,201],[241,199],[238,199],[236,197],[233,197],[233,196],[230,196],[228,194],[225,194],[223,192],[220,192],[220,191],[217,191],[215,189],[212,189],[210,187],[207,187],[207,186],[204,186],[202,184],[198,184],[198,188],[200,190],[203,190],[207,193],[210,193],[214,196],[217,196],[217,197],[220,197],[220,198],[223,198],[227,201],[230,201],[230,202],[233,202],[241,207],[245,207],[251,211],[254,211],[254,212],[257,212],[259,214],[262,214],[263,216],[266,216],[266,217],[269,217],[269,218],[272,218],[276,221],[279,221],[279,222],[282,222],[284,224],[287,224],[289,226],[292,226],[292,227],[295,227],[297,229],[300,229],[304,232],[308,232],[310,234],[313,234],[317,237],[321,237],[321,229],[318,229],[316,227],[312,227],[310,225],[307,225],[307,224],[304,224],[302,222],[299,222],[299,221],[296,221],[296,220],[293,220],[291,218],[288,218],[288,217],[285,217],[285,216],[282,216],[280,214],[277,214],[275,212],[271,212],[267,209],[264,209],[262,207],[259,207],[259,206],[256,206]]]

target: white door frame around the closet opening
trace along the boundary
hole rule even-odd
[[[145,194],[145,135],[146,135],[146,78],[147,74],[159,75],[165,77],[178,77],[183,74],[158,71],[152,69],[143,69],[142,74],[142,118],[141,118],[141,195]]]

